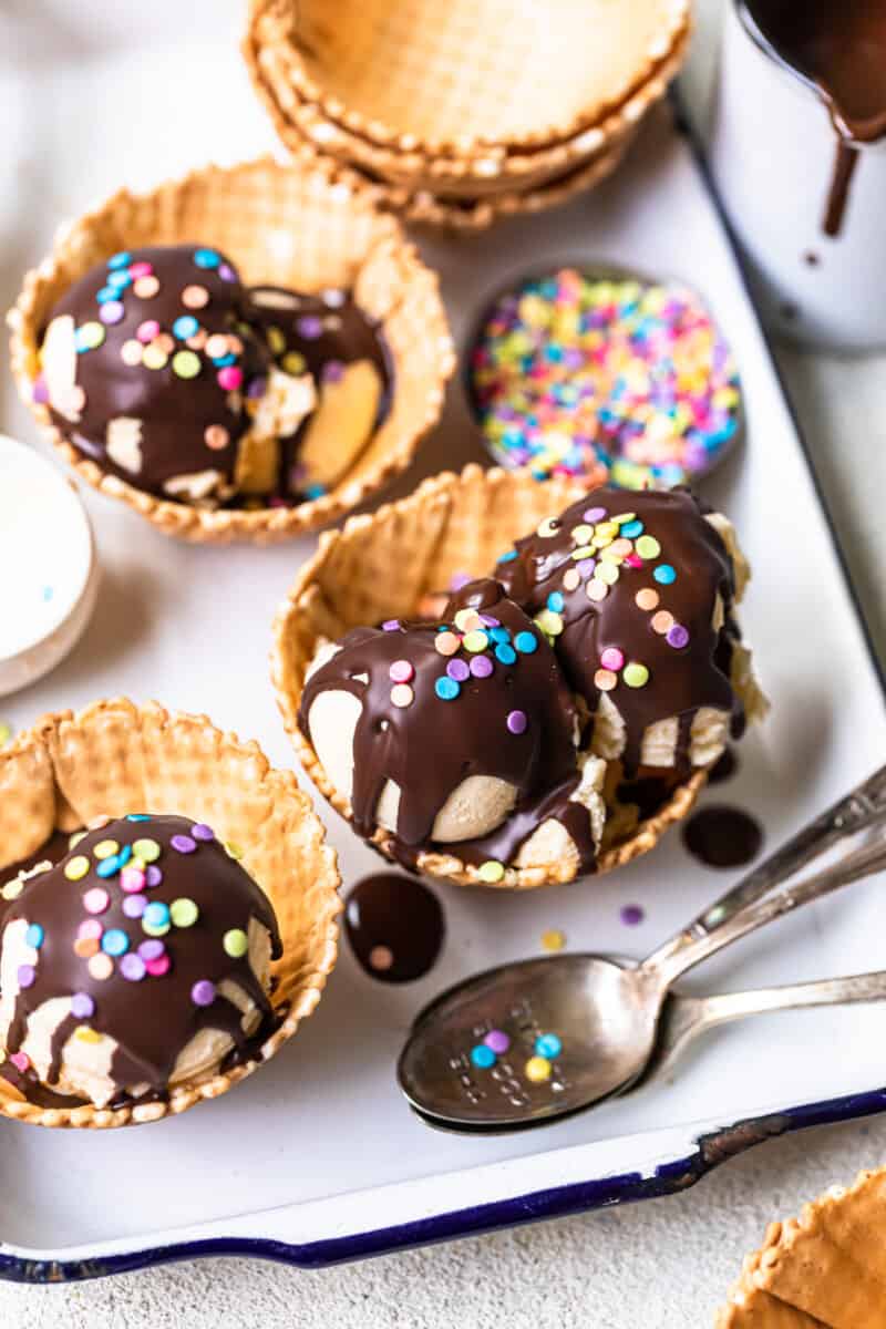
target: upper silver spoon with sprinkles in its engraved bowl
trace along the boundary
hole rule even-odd
[[[624,1092],[650,1065],[668,989],[680,974],[774,918],[886,868],[886,840],[878,837],[764,898],[837,841],[883,821],[886,767],[642,964],[546,957],[502,965],[450,989],[418,1015],[400,1057],[406,1099],[434,1124],[501,1131]],[[533,1057],[554,1046],[539,1043],[551,1034],[562,1051],[530,1070]],[[490,1053],[491,1063],[484,1065]],[[535,1071],[539,1079],[531,1078]]]

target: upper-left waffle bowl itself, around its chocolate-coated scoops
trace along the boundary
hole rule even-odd
[[[166,534],[194,542],[288,540],[337,520],[412,461],[440,415],[454,352],[437,278],[377,190],[316,154],[288,165],[270,157],[207,166],[146,194],[121,190],[62,231],[52,254],[25,278],[9,314],[12,371],[35,419],[77,473]],[[64,292],[96,263],[125,247],[214,245],[246,284],[303,291],[339,286],[380,320],[393,365],[391,409],[347,473],[324,494],[295,506],[201,506],[157,497],[85,457],[35,403],[40,339]]]

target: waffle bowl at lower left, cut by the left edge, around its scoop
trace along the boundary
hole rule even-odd
[[[262,1061],[270,1059],[317,1005],[337,954],[336,856],[307,796],[291,773],[271,769],[256,743],[155,703],[97,702],[77,715],[48,715],[0,752],[7,865],[35,855],[56,829],[72,832],[133,808],[205,819],[221,840],[238,845],[243,867],[271,900],[283,942],[271,1001],[283,1021],[262,1046]],[[0,1114],[52,1127],[153,1122],[218,1098],[260,1065],[209,1071],[159,1102],[120,1108],[44,1107],[0,1079]]]

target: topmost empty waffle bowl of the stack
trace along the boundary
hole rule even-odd
[[[531,155],[599,125],[656,78],[688,27],[688,0],[518,13],[509,0],[341,0],[335,15],[324,0],[252,0],[246,51],[254,73],[274,51],[279,76],[347,133],[450,158],[457,174],[460,161]]]

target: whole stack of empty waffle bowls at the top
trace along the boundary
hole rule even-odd
[[[687,0],[369,0],[335,21],[323,0],[252,0],[244,54],[288,148],[410,221],[477,229],[604,179],[688,39]]]

